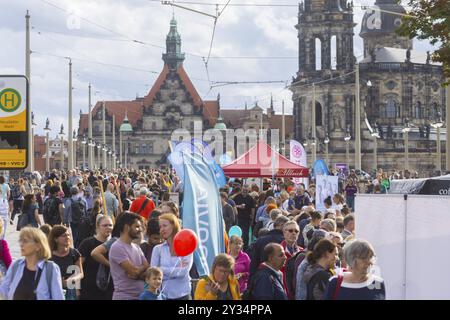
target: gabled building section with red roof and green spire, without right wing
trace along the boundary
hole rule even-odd
[[[172,19],[166,37],[166,53],[162,56],[164,67],[150,92],[134,101],[98,101],[92,110],[93,140],[103,142],[103,104],[106,144],[112,145],[114,115],[117,155],[119,130],[125,117],[132,126],[133,132],[124,136],[123,147],[123,153],[128,151],[127,164],[132,168],[147,169],[165,164],[168,141],[175,129],[184,128],[192,133],[195,121],[201,121],[203,128],[213,127],[218,118],[219,100],[201,99],[184,70],[184,58],[177,22]],[[81,140],[83,136],[88,136],[88,114],[80,115],[78,137]],[[80,152],[77,158],[80,159]],[[98,159],[94,162],[98,163]],[[120,162],[123,164],[124,160]]]

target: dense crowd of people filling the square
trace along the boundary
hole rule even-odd
[[[356,193],[386,192],[390,178],[351,171],[322,211],[313,180],[229,179],[220,189],[224,233],[239,226],[242,234],[226,237],[226,252],[199,277],[193,254],[174,250],[189,214],[175,172],[0,176],[0,299],[385,299],[375,251],[355,239],[353,211]],[[12,227],[22,255],[14,261],[4,237]]]

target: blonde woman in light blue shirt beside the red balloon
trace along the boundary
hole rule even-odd
[[[165,241],[153,248],[150,265],[163,271],[162,292],[168,300],[191,300],[189,271],[193,254],[178,257],[173,246],[173,239],[181,230],[180,221],[172,213],[162,214],[159,217],[159,230]]]

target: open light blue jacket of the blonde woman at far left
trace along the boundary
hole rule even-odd
[[[13,262],[6,273],[5,278],[0,284],[0,296],[7,300],[13,300],[17,285],[22,279],[23,270],[25,268],[25,259],[19,259]],[[38,269],[42,269],[41,278],[36,288],[37,300],[64,300],[62,290],[61,272],[59,267],[53,261],[40,260],[37,264]],[[47,283],[46,268],[53,268],[51,271],[50,282]],[[15,269],[15,274],[13,271]],[[36,273],[37,275],[37,273]]]

